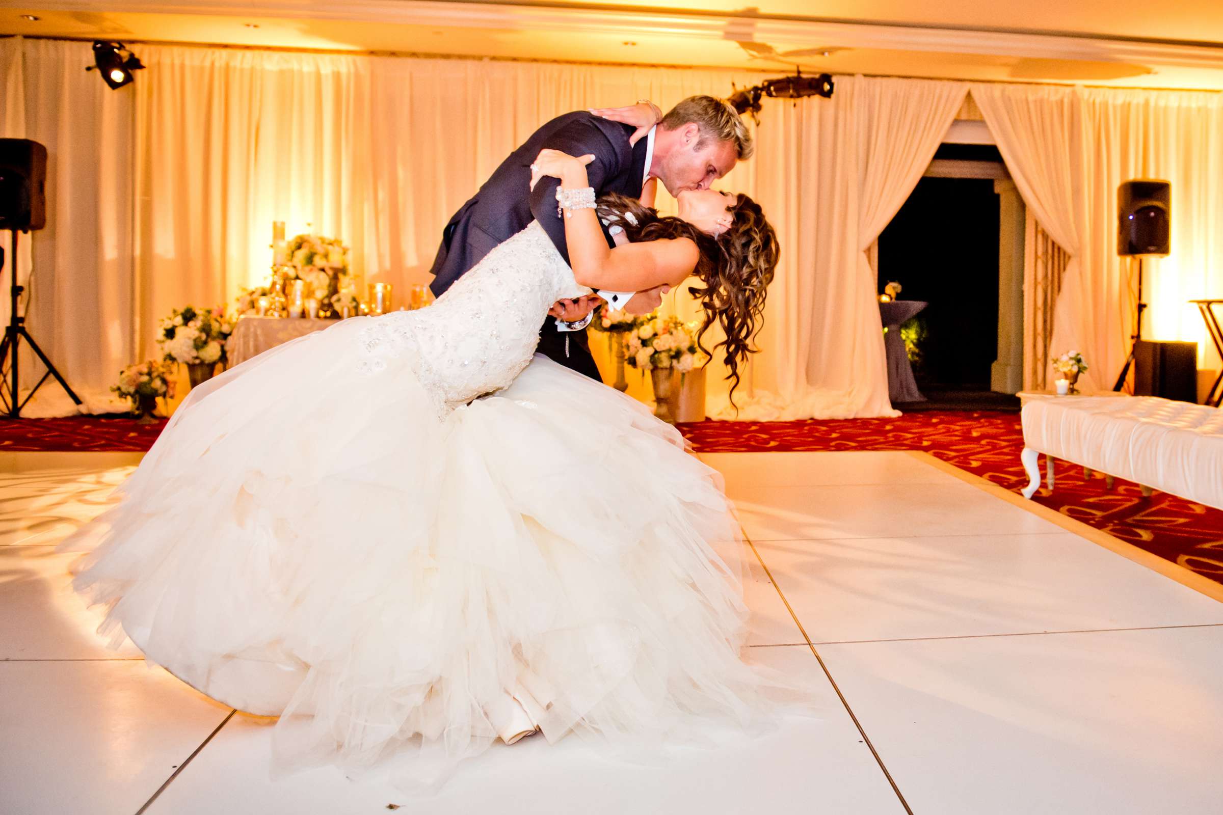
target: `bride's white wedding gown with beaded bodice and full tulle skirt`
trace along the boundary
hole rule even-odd
[[[718,474],[636,401],[533,357],[549,305],[586,291],[532,224],[427,309],[194,389],[61,546],[87,552],[73,585],[106,604],[100,632],[280,716],[280,769],[406,751],[428,782],[523,711],[549,742],[682,742],[801,696],[740,660]]]

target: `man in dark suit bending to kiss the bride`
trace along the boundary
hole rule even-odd
[[[530,165],[544,148],[575,156],[593,155],[586,172],[594,194],[614,192],[630,198],[641,198],[649,178],[662,181],[673,196],[685,189],[708,189],[711,183],[730,172],[735,161],[750,158],[753,149],[751,134],[735,110],[713,97],[689,97],[663,116],[645,138],[630,144],[635,130],[632,125],[586,111],[565,114],[537,130],[446,224],[433,261],[434,281],[429,288],[434,296],[442,296],[493,247],[536,219],[569,263],[565,224],[556,215],[560,181],[547,177],[533,191],[530,188]],[[658,307],[659,297],[654,290],[641,292],[625,308],[634,314],[648,314]],[[582,298],[577,303],[561,301],[550,313],[575,321],[583,319],[592,308],[591,298]],[[574,342],[566,342],[570,335]],[[585,330],[564,332],[549,319],[539,330],[538,351],[561,365],[600,380]]]

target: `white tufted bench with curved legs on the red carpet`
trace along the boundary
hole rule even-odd
[[[1053,458],[1081,464],[1152,489],[1223,510],[1223,411],[1155,396],[1076,396],[1032,400],[1024,406],[1021,459],[1041,485],[1037,456],[1046,455],[1049,489]]]

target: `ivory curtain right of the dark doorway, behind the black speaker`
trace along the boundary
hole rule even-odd
[[[1135,268],[1117,255],[1117,188],[1172,183],[1172,255],[1145,261],[1148,340],[1218,354],[1189,299],[1223,292],[1223,94],[972,84],[1024,202],[1066,250],[1049,354],[1082,352],[1084,390],[1112,390],[1130,348]]]

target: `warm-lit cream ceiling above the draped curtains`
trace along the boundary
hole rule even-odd
[[[1219,0],[27,1],[0,34],[1223,90]]]

